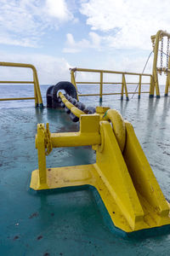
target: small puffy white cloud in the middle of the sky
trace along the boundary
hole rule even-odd
[[[67,53],[76,53],[81,52],[82,49],[95,48],[100,49],[100,37],[95,32],[89,32],[88,34],[89,40],[82,38],[80,41],[75,41],[73,35],[68,33],[66,35],[66,47],[63,49],[64,52]]]

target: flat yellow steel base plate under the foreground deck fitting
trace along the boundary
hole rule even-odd
[[[31,189],[34,190],[42,189],[42,187],[39,186],[38,172],[38,170],[35,170],[31,175]],[[144,201],[142,195],[139,195],[138,193],[139,201],[144,210],[144,218],[136,224],[135,229],[133,230],[116,204],[113,191],[111,191],[110,186],[105,182],[105,177],[102,175],[102,172],[99,172],[99,167],[96,164],[48,168],[47,184],[47,189],[59,189],[87,184],[94,186],[98,190],[113,224],[127,233],[170,224],[169,217],[160,218],[161,220],[159,223],[157,220],[159,217],[156,212],[154,212],[147,201]]]

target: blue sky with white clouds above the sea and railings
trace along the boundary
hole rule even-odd
[[[169,13],[168,0],[0,0],[0,60],[35,65],[40,84],[70,80],[70,67],[141,73]],[[31,76],[1,70],[0,79]]]

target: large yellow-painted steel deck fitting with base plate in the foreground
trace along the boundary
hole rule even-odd
[[[80,131],[50,133],[37,125],[38,170],[31,174],[31,189],[94,186],[115,226],[127,233],[170,224],[169,204],[161,192],[136,137],[133,126],[114,109],[97,107],[85,114],[59,92],[62,102],[80,119]],[[91,165],[47,168],[53,148],[92,146]]]

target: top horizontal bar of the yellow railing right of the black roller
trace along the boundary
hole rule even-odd
[[[131,72],[120,72],[120,71],[111,71],[111,70],[102,70],[102,69],[88,69],[88,68],[71,68],[74,72],[91,72],[91,73],[116,73],[116,74],[127,74],[127,75],[141,75],[152,77],[150,73],[131,73]]]

